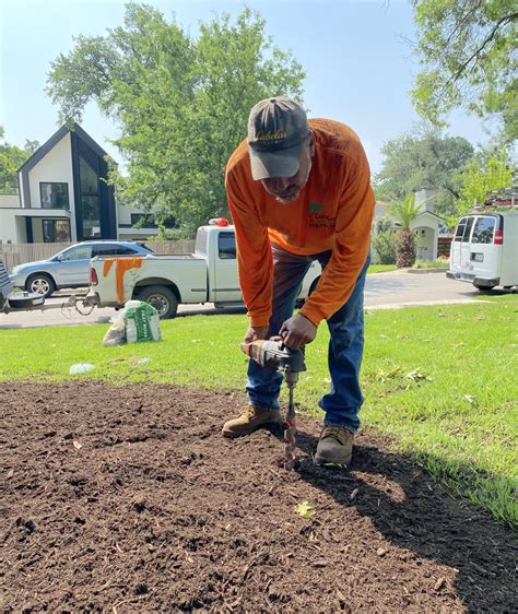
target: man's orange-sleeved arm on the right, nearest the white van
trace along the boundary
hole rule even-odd
[[[318,326],[351,296],[369,250],[375,198],[365,153],[352,168],[340,197],[332,256],[301,314]]]

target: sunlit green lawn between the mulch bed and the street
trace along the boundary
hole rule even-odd
[[[518,526],[517,322],[516,295],[366,311],[362,369],[364,426],[395,436],[454,492],[511,526]],[[108,324],[1,330],[0,380],[91,377],[242,390],[246,323],[245,316],[183,317],[162,323],[160,343],[120,347],[103,347]],[[323,324],[296,389],[314,413],[329,386],[328,340]],[[76,363],[95,368],[70,376]]]

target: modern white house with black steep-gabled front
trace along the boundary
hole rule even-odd
[[[13,244],[137,239],[153,220],[117,206],[106,152],[81,128],[61,127],[19,168],[19,194],[0,194],[0,241]],[[134,228],[139,221],[145,223]]]

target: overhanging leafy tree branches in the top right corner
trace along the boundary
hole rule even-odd
[[[412,0],[424,70],[412,92],[417,111],[444,123],[450,109],[497,114],[518,137],[516,0]]]

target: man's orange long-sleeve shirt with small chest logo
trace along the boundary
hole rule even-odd
[[[332,249],[316,291],[301,309],[317,326],[351,296],[367,258],[375,199],[362,143],[343,123],[310,119],[309,125],[315,156],[309,179],[293,202],[280,203],[252,179],[246,141],[226,168],[239,284],[252,327],[268,326],[271,316],[270,241],[298,255]]]

